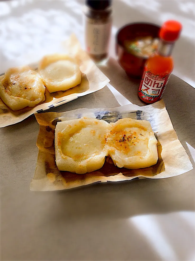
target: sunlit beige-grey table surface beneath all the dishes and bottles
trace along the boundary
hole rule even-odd
[[[82,4],[75,0],[0,2],[0,73],[55,52],[72,32],[84,45]],[[113,7],[112,57],[120,26],[135,21],[162,24],[170,18],[182,22],[173,54],[174,74],[195,87],[193,1],[114,0]],[[102,70],[110,77],[108,87],[114,95],[105,87],[55,111],[141,104],[113,58]],[[165,103],[193,161],[194,89],[175,76],[170,92],[172,86],[174,99],[166,94]],[[2,260],[195,260],[193,170],[163,180],[30,192],[37,134],[34,117],[1,129]]]

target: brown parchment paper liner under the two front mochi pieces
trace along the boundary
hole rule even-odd
[[[129,104],[112,109],[77,109],[62,113],[36,114],[40,125],[37,139],[39,148],[37,166],[31,181],[31,190],[47,191],[75,188],[97,182],[122,181],[132,179],[161,179],[183,174],[193,169],[185,149],[166,111],[164,101],[152,105],[138,106]],[[54,132],[58,121],[78,119],[81,117],[103,119],[116,122],[120,118],[149,120],[158,140],[159,159],[151,167],[129,170],[114,166],[110,157],[106,157],[104,166],[86,174],[59,171],[55,164]]]

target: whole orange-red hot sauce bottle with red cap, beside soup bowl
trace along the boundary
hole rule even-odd
[[[151,104],[162,98],[173,71],[171,53],[181,30],[182,25],[174,20],[166,21],[161,27],[159,48],[148,58],[138,89],[142,101]]]

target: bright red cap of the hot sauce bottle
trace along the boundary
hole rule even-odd
[[[160,38],[165,41],[176,41],[182,31],[182,24],[175,20],[168,20],[164,22],[160,30]]]

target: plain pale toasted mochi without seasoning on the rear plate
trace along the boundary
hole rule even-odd
[[[49,92],[66,91],[81,83],[79,65],[70,55],[46,55],[39,63],[39,73]]]

